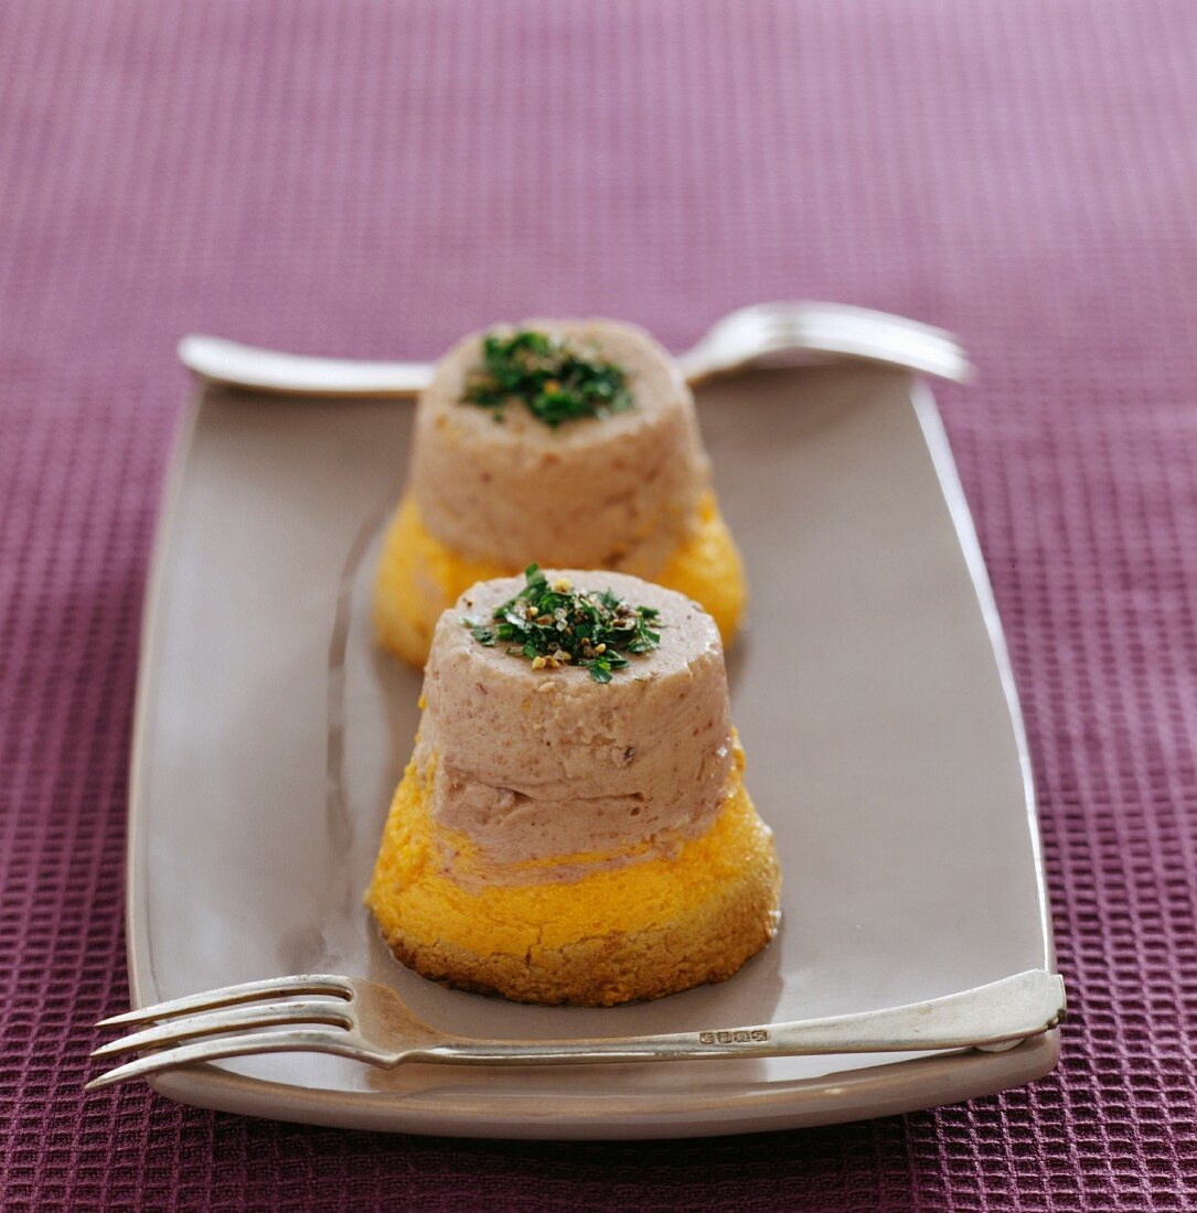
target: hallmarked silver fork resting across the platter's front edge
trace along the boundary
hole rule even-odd
[[[390,1070],[403,1061],[555,1065],[912,1049],[997,1052],[1049,1031],[1063,1013],[1063,979],[1029,969],[926,1002],[828,1019],[665,1036],[492,1041],[430,1027],[386,986],[361,978],[302,974],[210,990],[101,1020],[97,1027],[155,1021],[158,1026],[96,1049],[95,1058],[151,1052],[92,1078],[86,1089],[253,1053],[334,1053]]]

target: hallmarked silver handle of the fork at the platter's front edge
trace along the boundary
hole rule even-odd
[[[1063,979],[1045,969],[1029,969],[961,993],[855,1015],[666,1036],[523,1042],[461,1040],[405,1052],[395,1060],[552,1065],[966,1048],[997,1052],[1012,1048],[1028,1036],[1050,1031],[1062,1020],[1063,1013]]]

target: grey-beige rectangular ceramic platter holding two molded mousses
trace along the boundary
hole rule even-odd
[[[537,1008],[398,966],[362,905],[419,676],[370,642],[410,405],[202,388],[147,599],[129,825],[136,1006],[287,973],[365,976],[427,1023],[626,1036],[918,1002],[1054,969],[1000,623],[929,388],[894,369],[758,371],[698,393],[749,626],[728,656],[747,781],[784,872],[777,940],[653,1003]],[[114,1008],[119,1009],[119,1008]],[[323,1124],[651,1138],[951,1103],[1051,1069],[1003,1053],[380,1071],[279,1054],[154,1077],[164,1095]]]

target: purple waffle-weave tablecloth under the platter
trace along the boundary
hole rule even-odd
[[[1180,0],[0,6],[0,1207],[1193,1207],[1195,64]],[[1033,746],[1059,1070],[651,1144],[85,1099],[178,336],[432,357],[580,312],[680,347],[781,297],[981,368],[941,399]]]

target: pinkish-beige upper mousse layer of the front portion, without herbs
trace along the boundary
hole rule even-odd
[[[656,608],[660,644],[629,654],[605,684],[574,665],[538,670],[503,640],[484,647],[463,622],[489,622],[523,579],[467,591],[441,616],[425,672],[416,759],[436,757],[435,820],[500,869],[579,854],[596,856],[586,869],[675,854],[710,826],[732,764],[715,622],[682,594],[631,576],[565,570],[548,577]],[[637,843],[634,855],[600,858]],[[520,881],[566,871],[575,873],[577,865],[538,867]]]

